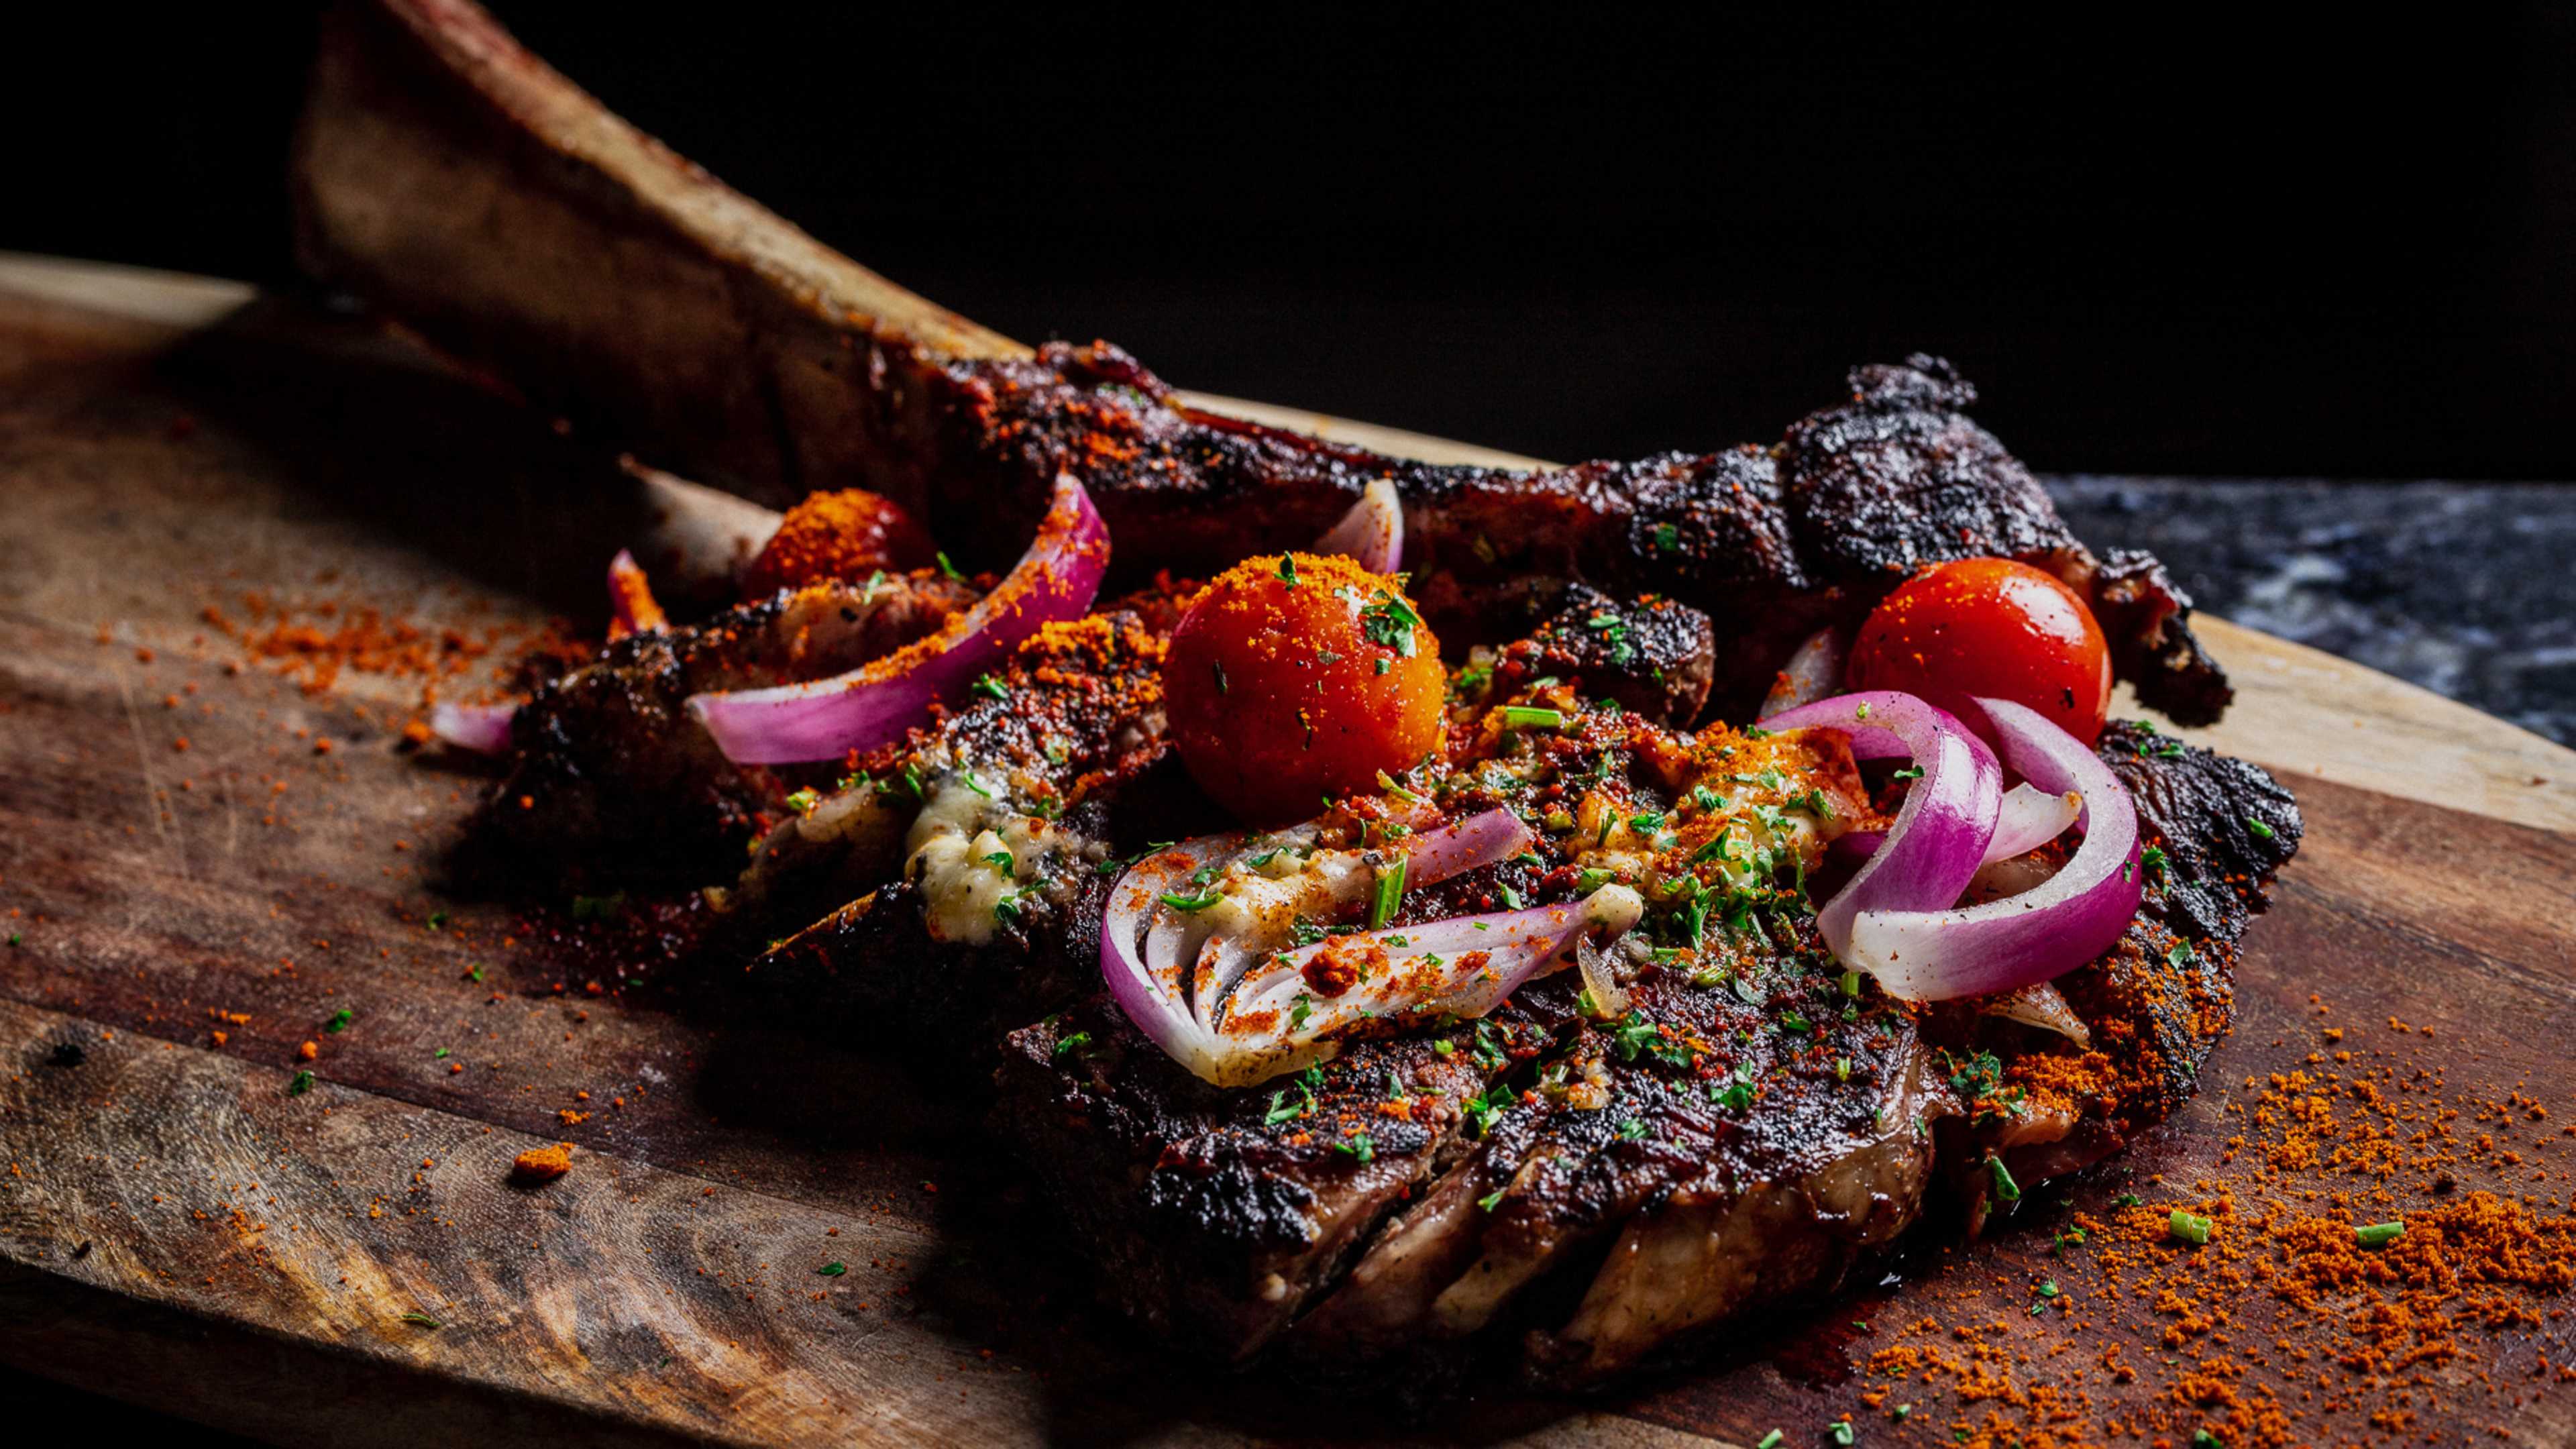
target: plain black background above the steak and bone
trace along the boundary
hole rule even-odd
[[[500,10],[896,281],[1188,387],[1574,459],[1927,348],[2043,469],[2576,477],[2550,5]],[[0,245],[283,281],[309,18],[155,15],[21,34]]]

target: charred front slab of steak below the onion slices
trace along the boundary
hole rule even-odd
[[[1414,1382],[1499,1348],[1540,1385],[1597,1385],[1829,1284],[1940,1181],[1973,1225],[2002,1207],[1999,1183],[2076,1171],[2190,1098],[2298,820],[2262,771],[2138,727],[2102,755],[2166,871],[2228,861],[2233,908],[2151,879],[2130,933],[2056,982],[2089,1047],[1973,1003],[1847,995],[1790,910],[1690,969],[1631,957],[1615,1016],[1577,1011],[1561,975],[1484,1024],[1368,1042],[1311,1085],[1208,1088],[1095,998],[1010,1036],[997,1132],[1066,1207],[1103,1292],[1185,1348],[1239,1359],[1278,1341]],[[1409,1104],[1388,1137],[1394,1096]],[[1360,1176],[1332,1147],[1352,1132],[1399,1158]]]

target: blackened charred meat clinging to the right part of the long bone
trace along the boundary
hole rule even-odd
[[[2190,637],[2190,598],[2143,554],[2097,559],[2004,446],[1963,410],[1976,389],[1914,356],[1852,371],[1850,400],[1770,451],[1667,454],[1543,472],[1435,467],[1340,449],[1182,407],[1108,343],[1036,361],[953,361],[943,451],[976,480],[945,498],[981,521],[992,498],[1036,518],[1059,469],[1084,480],[1128,578],[1303,547],[1373,477],[1404,495],[1404,562],[1443,637],[1494,639],[1530,578],[1662,593],[1708,614],[1713,704],[1744,717],[1795,642],[1857,621],[1911,570],[2004,554],[2097,603],[2141,699],[2184,724],[2228,686]],[[943,523],[933,500],[933,526]]]

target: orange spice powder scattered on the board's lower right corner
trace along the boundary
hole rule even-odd
[[[1855,1323],[1826,1441],[2555,1441],[2532,1410],[2576,1413],[2576,1214],[2527,1189],[2563,1181],[2568,1129],[2517,1091],[2452,1093],[2429,1034],[2365,1031],[2202,1083],[2228,1122],[2210,1178],[2112,1158],[1937,1253],[1906,1297],[1960,1307]]]

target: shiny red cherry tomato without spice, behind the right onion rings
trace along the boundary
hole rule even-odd
[[[1968,696],[2009,699],[2092,745],[2110,714],[2110,645],[2053,575],[1958,559],[1917,572],[1870,611],[1847,681],[1919,694],[1971,722]]]

